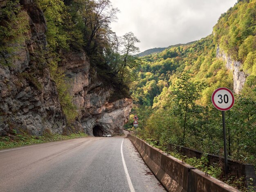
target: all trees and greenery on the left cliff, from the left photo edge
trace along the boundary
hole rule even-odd
[[[135,46],[139,40],[132,32],[117,37],[110,29],[110,23],[117,19],[119,10],[112,7],[109,0],[34,0],[33,4],[43,11],[47,45],[32,51],[30,63],[36,64],[30,65],[29,71],[22,72],[20,76],[41,90],[42,85],[37,78],[49,68],[68,124],[78,118],[63,66],[68,52],[86,53],[91,67],[97,68],[98,78],[106,86],[112,84],[120,91],[119,95],[112,95],[111,100],[129,97],[127,85],[135,76],[132,68],[140,63],[135,56],[139,52]],[[29,41],[31,34],[26,9],[20,6],[19,0],[6,0],[1,5],[1,65],[12,65],[18,51],[25,49],[24,45]]]

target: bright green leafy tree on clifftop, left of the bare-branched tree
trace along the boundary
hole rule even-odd
[[[62,0],[38,0],[47,22],[47,42],[53,51],[81,49],[82,33]],[[63,51],[63,50],[62,50]]]

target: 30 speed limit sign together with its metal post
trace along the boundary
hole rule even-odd
[[[235,98],[233,93],[225,88],[221,87],[216,89],[212,96],[211,101],[217,109],[222,111],[222,127],[223,127],[223,140],[224,140],[224,160],[225,160],[225,175],[228,174],[228,164],[227,164],[227,139],[226,139],[226,124],[225,124],[225,111],[233,107]]]

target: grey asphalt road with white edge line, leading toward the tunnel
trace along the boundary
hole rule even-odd
[[[0,192],[132,191],[165,190],[128,138],[87,137],[0,150]]]

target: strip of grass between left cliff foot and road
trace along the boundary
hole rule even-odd
[[[49,131],[44,132],[42,136],[29,135],[26,132],[17,133],[12,130],[8,136],[0,137],[0,150],[12,147],[20,147],[24,145],[32,145],[38,143],[47,143],[52,141],[62,141],[72,138],[87,137],[85,133],[72,133],[70,135],[52,134]]]

